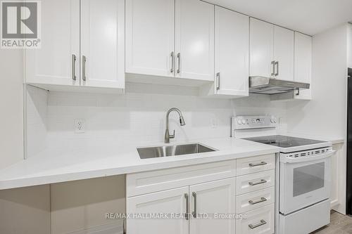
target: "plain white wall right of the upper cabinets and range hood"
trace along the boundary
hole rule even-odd
[[[323,138],[342,138],[347,129],[347,45],[348,24],[339,25],[313,37],[311,101],[287,104],[288,131]],[[346,155],[346,145],[341,155]],[[339,164],[341,204],[345,213],[346,157]]]

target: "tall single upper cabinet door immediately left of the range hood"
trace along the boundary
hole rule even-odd
[[[215,6],[215,79],[219,94],[248,96],[249,17]]]

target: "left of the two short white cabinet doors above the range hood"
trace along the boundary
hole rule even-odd
[[[249,74],[251,77],[273,77],[274,26],[268,22],[250,19]]]

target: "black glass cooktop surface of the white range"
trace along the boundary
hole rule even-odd
[[[255,141],[255,142],[263,143],[267,145],[275,145],[282,148],[325,143],[325,141],[316,141],[316,140],[310,140],[305,138],[296,138],[296,137],[282,136],[282,135],[258,136],[258,137],[244,138],[244,140]]]

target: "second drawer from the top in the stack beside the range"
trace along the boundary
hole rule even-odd
[[[275,170],[239,176],[236,179],[236,195],[250,193],[275,185]]]

